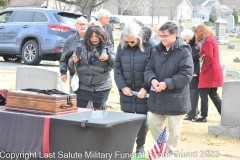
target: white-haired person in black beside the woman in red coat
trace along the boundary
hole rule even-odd
[[[198,101],[199,101],[199,50],[196,48],[195,36],[191,29],[185,29],[181,32],[181,38],[192,48],[192,58],[194,63],[194,73],[191,82],[189,83],[191,110],[188,112],[184,120],[196,120],[198,118]]]

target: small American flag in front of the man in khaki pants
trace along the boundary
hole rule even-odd
[[[157,139],[157,142],[154,143],[151,152],[149,153],[150,160],[159,159],[164,157],[167,152],[167,136],[166,136],[166,127],[161,132],[160,136]]]

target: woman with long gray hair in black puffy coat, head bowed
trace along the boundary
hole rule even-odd
[[[114,64],[114,78],[120,94],[121,110],[128,113],[147,114],[147,98],[150,86],[144,83],[144,70],[154,47],[149,43],[151,32],[146,34],[134,22],[123,28]],[[138,92],[133,94],[132,91]],[[136,154],[143,154],[148,122],[145,121],[137,134]]]

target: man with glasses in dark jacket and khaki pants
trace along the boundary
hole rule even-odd
[[[168,119],[168,152],[178,150],[183,118],[190,110],[188,83],[193,75],[190,47],[177,38],[178,27],[167,22],[159,29],[161,42],[155,47],[144,76],[152,90],[148,98],[148,120],[155,140]]]

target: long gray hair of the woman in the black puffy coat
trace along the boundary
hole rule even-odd
[[[138,38],[138,47],[139,47],[139,49],[142,52],[144,52],[144,47],[143,47],[143,42],[142,42],[142,35],[143,35],[142,28],[138,24],[136,24],[134,22],[126,23],[126,25],[123,28],[123,32],[122,32],[121,48],[124,49],[128,45],[124,41],[124,37],[125,36],[132,36],[134,38]]]

